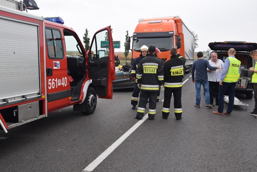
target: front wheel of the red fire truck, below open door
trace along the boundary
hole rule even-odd
[[[90,115],[94,113],[97,105],[97,94],[96,90],[93,87],[88,87],[85,101],[87,101],[85,103],[86,111],[82,113],[85,115]]]

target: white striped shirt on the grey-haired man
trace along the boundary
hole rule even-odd
[[[208,72],[208,81],[213,81],[213,82],[219,82],[221,79],[221,75],[219,75],[221,69],[224,66],[224,62],[220,59],[217,59],[217,63],[215,64],[212,60],[209,60],[209,63],[212,67],[217,67],[219,66],[220,69],[217,70],[212,70],[210,72]]]

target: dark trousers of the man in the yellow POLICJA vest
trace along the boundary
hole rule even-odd
[[[228,108],[227,108],[227,113],[231,114],[233,111],[234,107],[234,99],[235,99],[235,83],[227,83],[227,82],[222,82],[222,87],[219,88],[219,107],[218,107],[218,112],[223,113],[224,109],[224,94],[226,91],[228,91]]]

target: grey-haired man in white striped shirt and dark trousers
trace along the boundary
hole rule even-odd
[[[219,66],[220,69],[216,69],[216,70],[209,70],[207,68],[207,72],[208,72],[208,82],[209,82],[209,93],[210,93],[210,104],[212,106],[214,106],[213,104],[213,95],[215,95],[215,102],[216,105],[218,105],[218,95],[219,95],[219,82],[220,82],[220,71],[223,70],[223,61],[218,59],[218,55],[215,52],[212,52],[211,55],[211,60],[209,60],[209,63],[212,67],[216,67]]]

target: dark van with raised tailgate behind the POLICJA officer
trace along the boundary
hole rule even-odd
[[[240,42],[240,41],[225,41],[225,42],[211,42],[208,45],[212,52],[216,52],[218,59],[225,61],[228,57],[227,51],[230,48],[236,50],[236,59],[241,61],[240,69],[241,74],[239,78],[239,83],[235,89],[235,92],[245,94],[246,98],[252,99],[253,96],[253,83],[252,72],[248,70],[243,70],[242,67],[250,68],[255,66],[255,60],[250,57],[250,52],[257,49],[256,43]],[[211,58],[209,57],[209,60]]]

